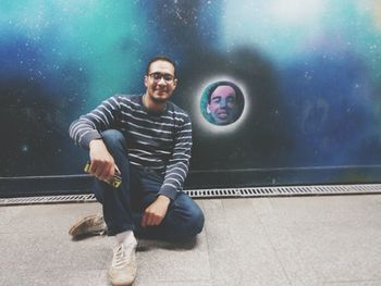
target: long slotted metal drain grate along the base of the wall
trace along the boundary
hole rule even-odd
[[[184,190],[192,198],[251,198],[251,197],[291,197],[291,196],[324,196],[324,195],[368,195],[381,194],[381,184],[367,185],[320,185],[320,186],[285,186],[285,187],[246,187],[246,188],[213,188]],[[0,206],[94,202],[94,195],[67,195],[26,198],[0,199]]]

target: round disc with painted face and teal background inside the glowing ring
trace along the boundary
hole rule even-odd
[[[202,101],[207,102],[202,104]],[[241,116],[243,108],[242,91],[230,82],[209,85],[201,98],[201,111],[205,119],[216,125],[229,125],[235,122]]]

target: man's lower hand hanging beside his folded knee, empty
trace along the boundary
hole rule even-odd
[[[145,210],[142,226],[159,225],[165,216],[171,199],[159,195],[159,197]]]

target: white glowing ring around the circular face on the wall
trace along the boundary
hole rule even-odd
[[[212,83],[221,82],[221,80],[234,83],[241,89],[243,97],[244,97],[244,110],[243,110],[241,116],[235,122],[233,122],[229,125],[216,125],[216,124],[208,122],[204,117],[201,109],[200,109],[201,97],[202,97],[205,89],[209,85],[211,85]],[[243,125],[243,123],[245,122],[245,120],[247,117],[248,111],[250,110],[250,98],[247,96],[246,86],[241,80],[238,80],[230,75],[213,75],[212,77],[206,78],[198,86],[198,88],[196,89],[196,92],[197,92],[197,97],[196,97],[196,100],[194,101],[196,122],[197,122],[197,125],[200,126],[205,132],[211,132],[213,134],[232,133]]]

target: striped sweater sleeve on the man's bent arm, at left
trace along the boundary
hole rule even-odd
[[[93,139],[102,138],[100,133],[115,124],[120,109],[116,96],[105,100],[96,109],[82,115],[70,125],[70,137],[76,145],[89,149],[89,144]]]

